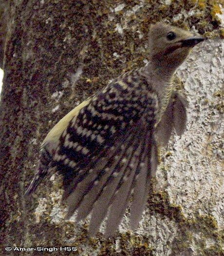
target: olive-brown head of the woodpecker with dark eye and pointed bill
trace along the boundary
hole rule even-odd
[[[163,22],[151,25],[149,30],[150,60],[161,68],[177,68],[191,48],[205,38]]]

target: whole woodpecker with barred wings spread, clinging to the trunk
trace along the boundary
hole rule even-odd
[[[113,79],[62,118],[40,147],[37,174],[25,195],[47,175],[63,179],[67,218],[91,214],[89,236],[106,221],[114,236],[127,209],[135,230],[158,166],[158,147],[186,129],[187,100],[173,83],[176,69],[205,38],[164,22],[149,27],[149,62]]]

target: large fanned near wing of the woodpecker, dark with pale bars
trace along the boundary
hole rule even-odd
[[[137,88],[130,89],[128,83]],[[69,205],[67,217],[78,209],[79,220],[93,210],[91,235],[109,207],[106,234],[114,233],[132,189],[132,227],[144,210],[151,162],[157,162],[153,129],[158,100],[147,86],[139,79],[116,81],[80,110],[60,138],[52,166],[64,176],[62,199]]]

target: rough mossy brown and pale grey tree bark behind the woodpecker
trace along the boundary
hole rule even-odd
[[[76,246],[78,255],[91,256],[224,255],[222,0],[11,0],[0,6],[1,254],[14,255],[6,246]],[[109,79],[143,66],[149,24],[158,20],[217,39],[195,47],[177,72],[190,103],[187,132],[163,150],[140,228],[129,232],[125,217],[115,238],[88,239],[88,220],[63,220],[59,177],[44,181],[28,200],[24,191],[49,129]]]

